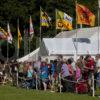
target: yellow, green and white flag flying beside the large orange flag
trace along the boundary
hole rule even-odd
[[[72,17],[70,17],[68,14],[56,10],[56,29],[72,30],[72,21]]]

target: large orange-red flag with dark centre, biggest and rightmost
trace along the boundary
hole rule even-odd
[[[95,15],[85,6],[76,4],[77,24],[94,26]]]

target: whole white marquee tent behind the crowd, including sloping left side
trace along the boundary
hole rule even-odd
[[[95,55],[100,53],[100,41],[98,41],[99,32],[100,27],[82,28],[60,32],[55,38],[44,38],[40,48],[18,59],[18,61],[36,60],[40,54],[41,56],[52,56],[59,54],[74,56],[76,54],[76,49],[78,55],[86,55],[88,53]],[[82,41],[81,39],[78,42],[73,40],[73,38],[76,37],[76,33],[77,38],[81,38]],[[84,39],[87,39],[90,42],[84,42]]]

